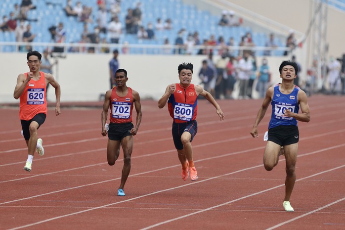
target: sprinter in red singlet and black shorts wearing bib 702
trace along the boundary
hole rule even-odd
[[[130,156],[133,150],[133,136],[138,132],[141,123],[141,104],[139,93],[127,87],[127,71],[118,69],[115,72],[116,87],[105,93],[102,111],[102,135],[108,134],[107,160],[114,165],[120,155],[120,144],[124,151],[124,167],[118,196],[124,196],[124,186],[130,172]],[[135,105],[136,123],[132,124],[132,110]],[[110,124],[106,127],[108,109]]]

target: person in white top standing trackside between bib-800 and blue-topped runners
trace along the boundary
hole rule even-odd
[[[253,70],[253,62],[250,58],[250,52],[245,51],[243,58],[238,61],[238,80],[239,80],[239,94],[238,99],[247,99],[248,82]]]

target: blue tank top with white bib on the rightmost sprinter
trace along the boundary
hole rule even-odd
[[[297,100],[297,93],[300,88],[295,86],[295,89],[290,94],[283,94],[279,91],[279,85],[274,86],[273,98],[271,101],[272,115],[268,125],[268,129],[280,125],[296,125],[297,120],[293,117],[284,117],[285,110],[290,109],[294,113],[298,113],[300,106]]]

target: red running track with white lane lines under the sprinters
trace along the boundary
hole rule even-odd
[[[308,98],[311,121],[299,123],[295,212],[285,212],[285,159],[262,165],[270,109],[250,135],[261,100],[219,100],[225,120],[199,100],[194,161],[198,181],[183,181],[167,108],[142,101],[125,197],[116,195],[122,157],[106,161],[101,108],[53,110],[39,130],[45,154],[33,170],[20,136],[18,108],[1,108],[0,230],[344,230],[345,97]],[[121,153],[122,155],[122,153]]]

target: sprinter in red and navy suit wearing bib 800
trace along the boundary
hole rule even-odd
[[[191,84],[193,64],[182,63],[178,66],[177,84],[167,87],[158,101],[158,107],[163,108],[168,102],[170,116],[173,118],[173,142],[177,150],[178,159],[182,165],[181,177],[187,180],[188,174],[192,181],[198,179],[193,162],[192,140],[197,133],[196,115],[198,112],[197,96],[202,95],[216,108],[220,120],[224,120],[224,113],[211,93],[200,86]]]

